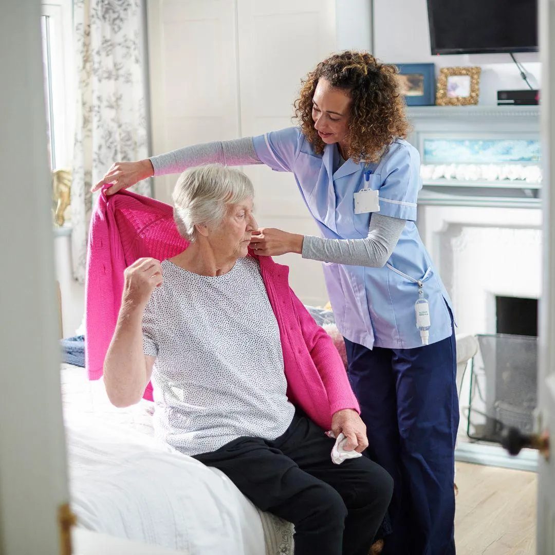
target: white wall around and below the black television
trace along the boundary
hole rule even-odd
[[[374,54],[388,63],[435,63],[440,67],[479,65],[480,104],[497,104],[497,90],[526,89],[509,54],[432,56],[426,0],[374,0]],[[515,54],[539,88],[538,53]]]

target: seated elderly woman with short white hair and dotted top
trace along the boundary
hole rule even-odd
[[[325,429],[344,433],[347,450],[367,447],[359,405],[286,268],[249,253],[253,195],[238,170],[181,174],[174,219],[190,245],[125,271],[107,392],[132,405],[152,378],[158,435],[292,522],[297,555],[367,555],[392,480],[366,457],[331,460]]]

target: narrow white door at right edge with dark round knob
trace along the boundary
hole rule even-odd
[[[543,294],[540,301],[539,411],[549,430],[551,457],[539,457],[538,555],[555,553],[555,1],[539,2],[542,60]]]

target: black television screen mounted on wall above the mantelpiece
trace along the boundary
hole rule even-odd
[[[427,2],[432,54],[538,50],[538,0]]]

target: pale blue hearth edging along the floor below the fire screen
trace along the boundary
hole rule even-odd
[[[513,470],[538,470],[538,452],[523,449],[516,457],[507,453],[500,445],[488,443],[458,442],[455,447],[455,460],[473,462],[477,465],[513,468]]]

